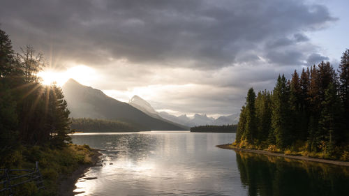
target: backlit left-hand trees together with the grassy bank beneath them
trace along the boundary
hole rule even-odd
[[[70,112],[61,89],[40,83],[37,74],[46,65],[29,45],[15,52],[0,29],[0,169],[32,169],[38,161],[45,186],[39,191],[34,182],[24,183],[13,195],[57,195],[59,176],[91,162],[89,146],[70,144]]]

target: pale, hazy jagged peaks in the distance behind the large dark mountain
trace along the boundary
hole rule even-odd
[[[229,116],[219,116],[217,119],[208,117],[206,114],[195,114],[193,118],[186,116],[186,114],[181,116],[174,116],[168,114],[168,112],[156,112],[153,107],[146,100],[140,98],[139,96],[133,96],[128,102],[133,107],[141,110],[145,114],[152,116],[156,119],[167,119],[174,123],[178,123],[184,126],[193,127],[193,126],[205,126],[205,125],[228,125],[228,124],[237,124],[239,121],[239,114],[232,114]]]

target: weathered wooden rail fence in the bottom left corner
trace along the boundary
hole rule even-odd
[[[35,169],[0,169],[0,195],[13,195],[13,188],[34,181],[38,189],[45,188],[38,162]]]

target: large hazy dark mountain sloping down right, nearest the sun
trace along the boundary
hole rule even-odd
[[[101,90],[70,79],[62,86],[73,118],[112,119],[131,123],[141,130],[186,130],[170,121],[156,119],[128,103],[105,95]]]

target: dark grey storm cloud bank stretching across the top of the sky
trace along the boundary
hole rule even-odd
[[[295,47],[309,40],[304,32],[334,20],[325,6],[281,0],[5,0],[0,6],[1,28],[17,45],[90,66],[124,58],[211,69],[246,61],[244,52],[270,63],[299,63],[304,55],[272,48]]]

